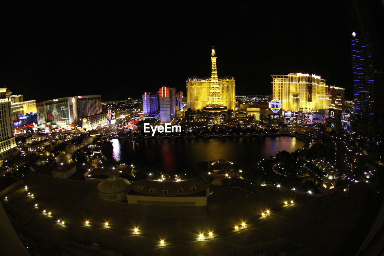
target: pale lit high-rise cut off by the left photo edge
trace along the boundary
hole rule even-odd
[[[10,160],[18,155],[11,119],[11,98],[7,88],[0,88],[0,160]]]

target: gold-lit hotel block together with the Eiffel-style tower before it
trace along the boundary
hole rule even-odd
[[[235,78],[233,76],[224,76],[222,78],[217,77],[217,63],[214,49],[212,49],[211,53],[211,63],[212,71],[210,78],[198,78],[196,76],[190,76],[187,78],[187,108],[191,108],[192,111],[196,111],[202,110],[205,106],[207,106],[210,94],[215,93],[212,91],[212,82],[214,82],[216,90],[218,90],[221,94],[219,103],[222,103],[222,105],[226,106],[227,109],[234,110]],[[212,100],[213,99],[214,95],[212,96]]]

